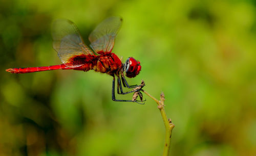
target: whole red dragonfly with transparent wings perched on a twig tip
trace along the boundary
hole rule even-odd
[[[139,101],[142,100],[120,100],[115,97],[115,75],[117,76],[118,94],[139,91],[132,90],[130,92],[123,92],[122,85],[127,88],[140,86],[130,86],[123,74],[125,71],[125,75],[130,78],[138,75],[141,69],[140,62],[130,57],[123,64],[121,60],[112,53],[115,37],[121,24],[122,18],[120,17],[109,17],[103,20],[90,34],[89,40],[91,42],[91,48],[89,48],[84,44],[76,25],[72,21],[64,19],[56,20],[52,28],[53,48],[57,51],[58,57],[63,64],[46,67],[11,68],[6,69],[6,71],[11,73],[30,73],[56,69],[95,70],[113,76],[112,100],[139,103]]]

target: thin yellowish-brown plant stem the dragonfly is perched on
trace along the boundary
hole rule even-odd
[[[164,126],[165,126],[165,142],[164,142],[164,148],[163,148],[163,156],[167,156],[169,154],[169,149],[170,149],[170,137],[172,136],[172,131],[175,125],[172,123],[171,119],[167,118],[166,113],[164,111],[164,100],[165,100],[164,94],[161,93],[160,100],[158,100],[152,95],[148,94],[146,91],[144,90],[141,90],[141,91],[157,102],[158,109],[160,110],[161,116],[163,118]]]

